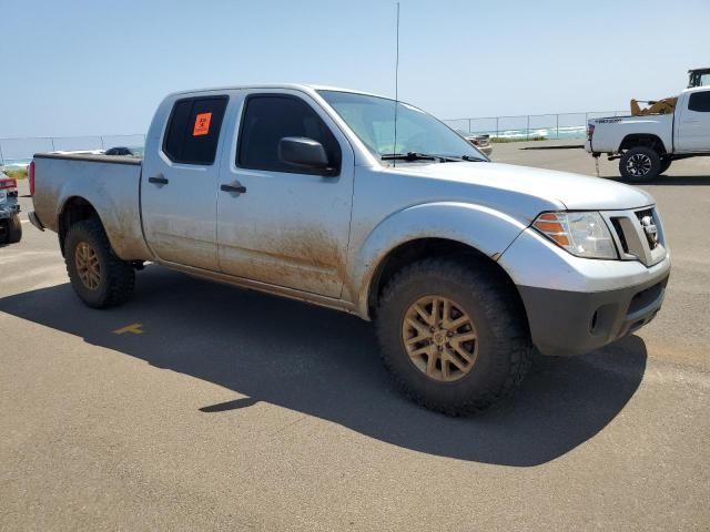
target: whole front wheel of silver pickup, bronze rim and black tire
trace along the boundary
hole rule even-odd
[[[517,293],[483,264],[427,259],[406,267],[385,287],[376,327],[399,388],[447,415],[489,408],[513,393],[530,366]]]

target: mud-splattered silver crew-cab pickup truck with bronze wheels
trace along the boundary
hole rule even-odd
[[[508,396],[534,347],[584,354],[646,325],[670,272],[646,192],[491,163],[359,92],[171,94],[142,160],[33,164],[30,219],[87,305],[122,304],[152,262],[353,313],[405,393],[450,415]]]

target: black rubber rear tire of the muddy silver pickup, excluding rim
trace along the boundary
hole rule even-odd
[[[83,249],[88,245],[98,260],[97,286],[90,287],[80,276],[77,258],[80,245]],[[99,218],[82,219],[70,227],[64,239],[64,262],[74,291],[89,307],[118,306],[125,303],[133,293],[133,266],[113,253]]]

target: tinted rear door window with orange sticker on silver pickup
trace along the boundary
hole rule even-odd
[[[227,96],[178,100],[168,122],[165,155],[175,163],[213,164],[227,100]]]

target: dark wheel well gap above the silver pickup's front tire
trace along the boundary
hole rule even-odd
[[[485,268],[501,287],[510,294],[513,305],[521,310],[526,319],[525,306],[515,283],[508,276],[507,272],[500,267],[493,258],[479,252],[475,247],[462,244],[460,242],[449,241],[446,238],[420,238],[410,241],[392,249],[387,256],[379,263],[373,280],[369,285],[367,299],[368,314],[375,317],[377,313],[377,301],[382,296],[387,283],[405,266],[425,258],[463,258],[469,264],[476,264],[480,268]]]

